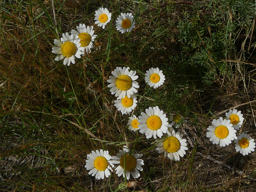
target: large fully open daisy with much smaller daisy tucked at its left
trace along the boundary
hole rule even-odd
[[[146,109],[146,113],[142,112],[139,116],[138,126],[140,128],[140,133],[145,134],[146,138],[151,138],[156,135],[161,138],[163,133],[168,131],[168,118],[162,110],[156,107],[149,107]]]

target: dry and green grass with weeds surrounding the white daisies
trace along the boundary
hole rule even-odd
[[[206,133],[236,108],[244,118],[236,134],[256,139],[255,1],[4,0],[0,7],[2,191],[254,190],[255,152],[240,154],[235,140],[212,144]],[[112,13],[104,29],[94,20],[101,7]],[[121,13],[134,17],[131,32],[116,30]],[[94,47],[63,65],[52,53],[54,39],[79,24],[93,26]],[[108,87],[117,67],[138,75],[130,114],[118,111]],[[156,89],[145,82],[150,68],[165,76]],[[127,125],[156,106],[186,140],[179,161],[164,158],[159,141]],[[87,155],[101,149],[119,161],[118,153],[129,150],[125,157],[143,160],[143,171],[128,180],[115,165],[108,178],[96,179],[85,166]]]

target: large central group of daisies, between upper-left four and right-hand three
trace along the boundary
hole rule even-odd
[[[117,100],[114,101],[114,106],[122,114],[128,114],[137,105],[135,94],[140,86],[135,81],[138,79],[136,71],[130,70],[129,67],[117,67],[112,71],[112,75],[108,79],[108,83],[110,83],[108,87],[111,94],[117,97]],[[162,70],[151,68],[146,71],[145,81],[150,87],[158,88],[164,83],[164,80],[165,76]],[[155,139],[157,137],[162,138],[163,134],[167,134],[164,139],[156,140],[156,150],[159,153],[164,153],[164,156],[168,156],[170,160],[178,161],[180,156],[183,157],[186,154],[185,150],[188,150],[188,148],[186,147],[186,139],[182,139],[180,132],[175,132],[174,129],[171,129],[173,123],[178,123],[181,117],[176,116],[174,118],[172,116],[171,118],[172,123],[169,124],[166,114],[158,106],[155,106],[153,108],[149,107],[145,112],[141,112],[138,118],[133,114],[129,117],[128,125],[130,130],[139,130],[140,133],[145,134],[147,139],[152,138],[152,136]],[[130,175],[132,175],[133,178],[138,178],[140,176],[139,170],[142,171],[143,168],[141,166],[144,165],[144,161],[140,157],[142,157],[142,154],[131,154],[127,146],[123,146],[123,150],[120,150],[113,157],[108,154],[108,151],[96,150],[96,152],[92,151],[87,155],[85,167],[90,170],[89,174],[92,174],[97,179],[103,179],[113,171],[114,164],[118,164],[114,168],[118,176],[122,175],[129,179]]]

